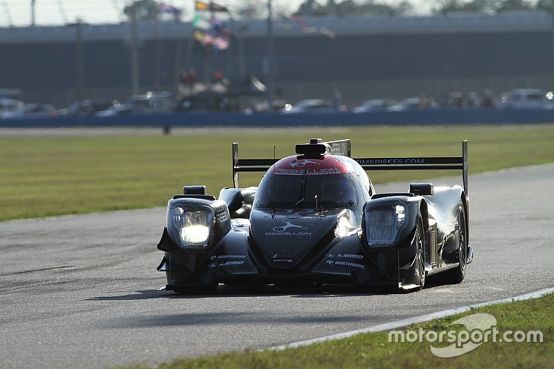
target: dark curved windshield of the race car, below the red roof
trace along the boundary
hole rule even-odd
[[[344,208],[357,204],[358,196],[352,173],[267,173],[254,200],[256,208]]]

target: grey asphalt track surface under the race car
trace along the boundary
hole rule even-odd
[[[411,294],[334,286],[220,287],[215,296],[159,290],[164,208],[0,222],[0,367],[154,366],[554,287],[553,185],[554,164],[471,176],[475,259],[466,279],[429,278]],[[376,189],[407,189],[399,186]]]

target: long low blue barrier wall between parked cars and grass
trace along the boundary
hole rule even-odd
[[[554,109],[421,109],[336,114],[243,114],[186,112],[111,117],[75,116],[0,120],[0,128],[22,127],[332,127],[356,125],[470,125],[554,123]]]

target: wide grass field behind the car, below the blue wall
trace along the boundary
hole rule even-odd
[[[174,131],[175,132],[175,131]],[[253,132],[253,133],[248,133]],[[352,156],[460,156],[470,174],[554,161],[554,124],[220,129],[155,134],[0,136],[0,220],[166,206],[182,186],[232,186],[231,143],[244,158],[283,157],[312,137],[351,138]],[[375,172],[374,183],[458,175]],[[256,186],[262,174],[242,174]],[[406,185],[407,186],[407,185]]]

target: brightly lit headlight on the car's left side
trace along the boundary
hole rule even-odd
[[[186,210],[177,206],[172,210],[171,228],[177,233],[179,246],[199,249],[208,246],[213,225],[213,214],[204,210]],[[175,237],[177,238],[177,237]]]

